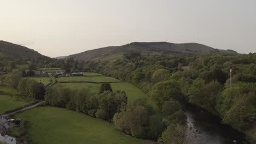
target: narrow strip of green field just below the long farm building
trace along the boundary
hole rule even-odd
[[[68,82],[75,82],[75,81],[89,81],[89,82],[119,82],[113,77],[108,76],[70,76],[70,77],[59,77],[57,81],[68,81]]]

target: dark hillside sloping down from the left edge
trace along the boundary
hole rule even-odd
[[[9,43],[7,41],[0,40],[0,58],[8,59],[9,61],[45,61],[50,60],[50,57],[46,57],[34,51],[28,49],[25,46]]]

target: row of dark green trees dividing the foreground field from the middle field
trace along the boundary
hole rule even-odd
[[[48,88],[45,101],[49,105],[77,110],[110,121],[115,113],[126,106],[127,96],[125,92],[120,91],[104,91],[98,95],[91,95],[86,88],[74,91],[59,85]]]

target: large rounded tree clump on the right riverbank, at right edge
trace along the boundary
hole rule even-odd
[[[256,120],[255,87],[255,83],[238,82],[222,92],[216,109],[224,123],[244,131]]]

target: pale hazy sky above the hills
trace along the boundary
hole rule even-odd
[[[133,41],[256,52],[255,0],[0,0],[0,40],[66,56]]]

